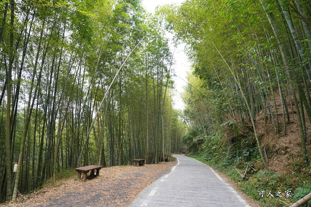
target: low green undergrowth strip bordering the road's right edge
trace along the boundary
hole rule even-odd
[[[256,172],[252,170],[249,177],[243,180],[234,165],[240,170],[245,170],[246,166],[243,168],[239,163],[234,163],[234,160],[221,159],[225,157],[224,154],[212,159],[209,158],[211,155],[199,152],[192,152],[188,156],[229,176],[239,190],[257,200],[261,206],[288,206],[311,192],[311,185],[308,184],[310,178],[304,173],[292,172],[288,175],[278,175],[264,170]],[[265,191],[263,197],[259,195],[258,191]],[[274,197],[266,197],[269,191]],[[281,191],[279,195],[283,197],[275,196],[277,191]],[[290,195],[292,197],[286,198],[285,191],[291,191]],[[311,202],[309,201],[305,206],[310,207]]]

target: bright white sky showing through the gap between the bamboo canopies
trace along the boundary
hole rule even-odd
[[[142,5],[145,7],[145,9],[150,12],[154,13],[154,10],[157,5],[164,5],[164,4],[172,4],[177,3],[180,4],[184,0],[143,0]],[[172,35],[168,34],[168,38],[172,37]],[[170,41],[170,50],[171,52],[174,51],[174,45],[173,42]],[[180,78],[186,80],[186,71],[190,69],[190,61],[188,60],[187,55],[184,53],[184,44],[179,44],[174,52],[174,58],[175,58],[175,65],[172,67],[175,69],[175,74],[178,75]],[[173,100],[175,102],[175,109],[184,109],[184,104],[180,98],[179,93],[183,92],[183,86],[186,85],[182,79],[178,77],[174,77],[175,86],[176,86],[176,94],[173,96]]]

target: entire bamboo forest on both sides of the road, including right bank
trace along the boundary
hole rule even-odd
[[[256,206],[310,200],[311,1],[145,2],[0,0],[0,203],[182,153]]]

